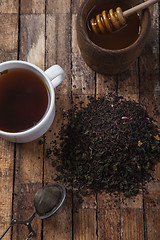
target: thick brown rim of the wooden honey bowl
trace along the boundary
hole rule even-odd
[[[82,18],[82,12],[83,12],[84,7],[86,6],[87,2],[88,2],[88,0],[85,0],[85,1],[82,3],[81,7],[80,7],[80,10],[79,10],[79,13],[78,13],[78,16],[77,16],[77,24],[79,25],[79,28],[80,28],[80,30],[81,30],[81,33],[82,33],[85,41],[86,41],[91,47],[94,47],[94,48],[96,48],[97,50],[99,50],[99,51],[101,51],[101,52],[103,51],[104,53],[112,53],[112,54],[115,53],[115,54],[117,54],[117,53],[126,52],[127,50],[133,50],[144,38],[146,38],[147,31],[149,31],[149,29],[147,30],[147,27],[145,27],[145,29],[144,29],[144,34],[143,34],[143,35],[140,34],[139,37],[136,39],[136,41],[135,41],[134,43],[132,43],[132,44],[131,44],[130,46],[128,46],[128,47],[125,47],[125,48],[122,48],[122,49],[117,49],[117,50],[112,50],[112,49],[105,49],[105,48],[102,48],[102,47],[96,45],[94,42],[92,42],[92,41],[89,39],[86,31],[82,28],[81,23],[80,23],[80,22],[81,22],[81,18]],[[148,21],[147,21],[146,26],[148,26],[148,24],[149,24],[149,27],[150,27],[151,16],[150,16],[149,9],[146,8],[146,9],[143,10],[143,12],[144,12],[145,14],[148,14],[148,18],[147,18]]]

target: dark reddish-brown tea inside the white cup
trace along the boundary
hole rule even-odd
[[[0,130],[21,132],[33,127],[49,103],[47,86],[36,73],[21,68],[0,73]]]

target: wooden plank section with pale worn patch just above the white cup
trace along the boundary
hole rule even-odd
[[[20,27],[19,58],[45,68],[45,15],[23,14]]]

